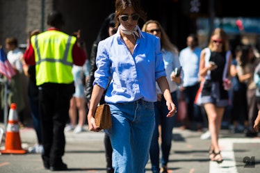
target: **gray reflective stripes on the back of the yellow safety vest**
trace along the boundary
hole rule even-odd
[[[40,50],[39,50],[39,46],[38,46],[38,35],[35,35],[35,48],[36,48],[36,52],[38,55],[38,62],[36,63],[36,65],[39,65],[40,63],[44,62],[44,61],[48,61],[51,63],[56,63],[56,62],[60,62],[63,63],[64,65],[73,65],[73,63],[67,62],[67,53],[69,53],[69,49],[70,49],[70,42],[72,40],[72,36],[69,36],[67,43],[66,43],[66,49],[65,49],[65,53],[63,55],[63,58],[61,60],[57,60],[54,58],[43,58],[40,56]]]

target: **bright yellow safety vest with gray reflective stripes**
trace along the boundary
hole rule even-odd
[[[43,83],[72,83],[72,47],[76,37],[61,31],[46,31],[33,35],[36,85]]]

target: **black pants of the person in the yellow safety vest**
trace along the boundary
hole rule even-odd
[[[60,167],[63,164],[64,128],[74,90],[74,83],[44,83],[39,88],[44,167]]]

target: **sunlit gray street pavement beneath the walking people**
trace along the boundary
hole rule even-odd
[[[85,129],[88,127],[86,126]],[[201,140],[201,134],[197,131],[182,131],[179,128],[174,128],[172,150],[168,163],[170,173],[259,172],[259,138],[244,138],[243,133],[231,134],[228,130],[222,130],[220,147],[224,162],[218,165],[209,161],[210,140]],[[19,135],[23,149],[32,147],[36,142],[35,131],[32,128],[19,129]],[[87,130],[79,134],[66,132],[65,136],[67,144],[63,160],[69,169],[66,172],[106,173],[103,131],[95,133]],[[1,149],[3,147],[4,143],[2,143]],[[254,167],[250,167],[251,163]],[[151,173],[149,162],[146,168],[147,173]],[[0,155],[0,172],[42,173],[50,171],[44,170],[40,154],[27,153]]]

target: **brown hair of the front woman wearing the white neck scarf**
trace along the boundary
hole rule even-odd
[[[115,27],[117,28],[120,25],[119,16],[122,11],[124,11],[127,7],[132,8],[136,11],[140,18],[143,19],[143,22],[146,22],[146,13],[142,10],[140,6],[139,0],[115,0]]]

